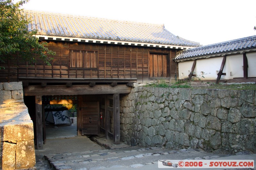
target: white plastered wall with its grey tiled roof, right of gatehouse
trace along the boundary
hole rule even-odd
[[[256,35],[182,50],[174,60],[179,63],[180,79],[255,82]]]

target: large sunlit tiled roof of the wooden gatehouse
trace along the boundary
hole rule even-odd
[[[147,24],[103,18],[51,13],[24,12],[31,19],[28,31],[36,29],[38,35],[69,37],[71,39],[95,39],[126,41],[183,47],[198,47],[199,43],[182,39],[164,28],[164,25]],[[170,47],[169,47],[170,48]]]

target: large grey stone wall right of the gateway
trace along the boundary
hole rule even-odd
[[[253,90],[135,87],[120,99],[126,144],[256,153]]]

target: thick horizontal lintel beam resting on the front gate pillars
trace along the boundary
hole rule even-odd
[[[23,88],[25,96],[35,95],[80,95],[80,94],[113,94],[123,93],[127,94],[131,92],[131,87],[126,85],[95,85],[90,87],[89,85],[72,85],[67,87],[66,85],[47,85],[41,87],[40,85],[28,86]]]

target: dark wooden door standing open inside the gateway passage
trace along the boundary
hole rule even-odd
[[[82,102],[82,135],[100,134],[99,102]]]

